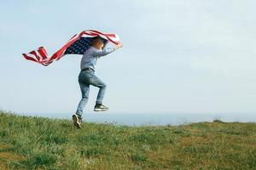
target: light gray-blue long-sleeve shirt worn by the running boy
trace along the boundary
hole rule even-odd
[[[88,48],[81,59],[81,70],[85,68],[92,68],[95,71],[97,59],[112,53],[115,48],[104,48],[103,50],[96,49],[94,47]]]

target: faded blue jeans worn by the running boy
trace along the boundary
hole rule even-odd
[[[89,99],[90,85],[93,85],[99,89],[96,103],[102,103],[107,85],[96,77],[94,71],[81,71],[79,74],[79,85],[82,92],[82,99],[79,102],[78,109],[76,111],[80,116],[83,115],[83,110]]]

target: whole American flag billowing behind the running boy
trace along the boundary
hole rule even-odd
[[[22,54],[25,59],[35,61],[41,65],[49,65],[55,60],[61,59],[66,54],[84,54],[91,46],[93,37],[101,37],[104,42],[104,46],[108,42],[113,44],[119,43],[119,36],[117,34],[104,34],[100,31],[87,30],[82,31],[79,34],[74,35],[70,40],[52,56],[48,56],[47,51],[44,47],[40,47],[28,54]]]

